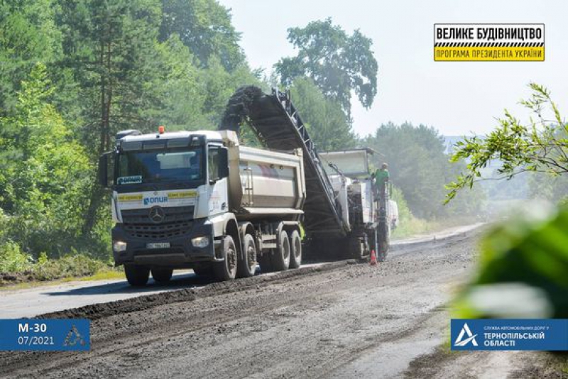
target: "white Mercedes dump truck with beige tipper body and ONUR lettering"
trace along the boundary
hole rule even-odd
[[[102,184],[109,155],[102,156]],[[231,280],[297,268],[305,202],[302,150],[239,145],[234,131],[116,136],[114,261],[131,285],[174,269]]]

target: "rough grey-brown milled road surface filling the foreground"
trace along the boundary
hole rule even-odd
[[[91,351],[3,352],[0,376],[408,375],[447,338],[444,304],[475,256],[476,237],[458,236],[374,267],[333,263],[52,314],[92,319]]]

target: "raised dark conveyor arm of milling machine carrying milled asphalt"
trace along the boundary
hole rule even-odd
[[[349,226],[342,221],[332,184],[289,97],[277,89],[273,89],[272,94],[264,94],[258,87],[241,87],[229,99],[219,130],[238,133],[244,121],[250,123],[267,148],[302,149],[306,181],[305,230],[310,234],[345,236]]]

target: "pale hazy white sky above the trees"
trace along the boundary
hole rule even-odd
[[[378,94],[370,109],[352,98],[354,131],[365,136],[392,121],[423,123],[445,136],[484,134],[507,108],[528,120],[518,101],[529,82],[550,89],[568,109],[568,1],[538,0],[219,0],[231,9],[253,68],[270,74],[295,55],[287,29],[331,17],[373,40]],[[434,62],[434,23],[545,23],[545,62]],[[564,105],[564,107],[563,107]]]

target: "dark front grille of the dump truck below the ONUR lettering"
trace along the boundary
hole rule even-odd
[[[172,238],[190,231],[193,209],[194,207],[163,208],[165,217],[160,224],[154,224],[148,217],[150,209],[129,209],[122,211],[122,222],[126,233],[134,238]]]

